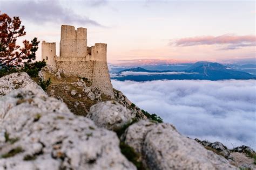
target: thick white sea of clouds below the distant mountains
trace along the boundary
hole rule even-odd
[[[112,84],[185,136],[256,149],[256,80],[112,80]]]

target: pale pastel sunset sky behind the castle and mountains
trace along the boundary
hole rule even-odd
[[[24,38],[56,42],[57,55],[65,24],[86,27],[88,46],[107,43],[109,63],[255,59],[255,1],[0,0],[0,10],[21,17]]]

